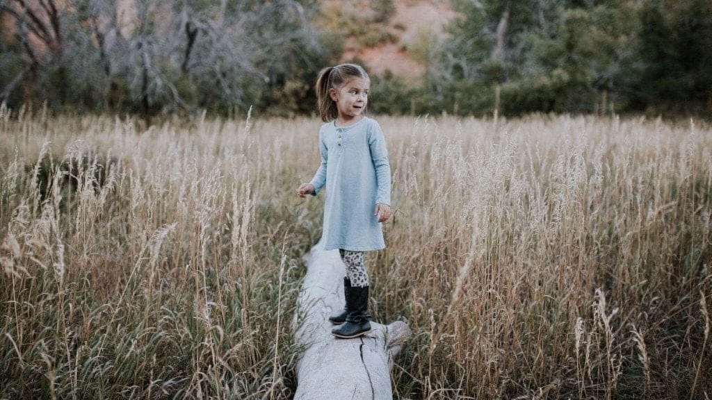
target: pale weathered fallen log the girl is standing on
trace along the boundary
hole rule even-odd
[[[392,399],[390,367],[410,337],[408,325],[371,322],[372,332],[365,336],[336,339],[328,317],[344,306],[345,267],[337,250],[324,251],[320,244],[307,260],[294,321],[296,339],[305,346],[294,399]]]

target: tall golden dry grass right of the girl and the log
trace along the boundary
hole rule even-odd
[[[374,265],[376,314],[417,332],[399,396],[712,395],[709,127],[568,116],[384,127],[400,212]]]

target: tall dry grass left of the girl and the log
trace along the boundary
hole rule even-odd
[[[5,117],[0,398],[288,398],[284,321],[318,234],[286,192],[292,125]],[[50,156],[112,162],[75,190],[56,167],[43,199]]]

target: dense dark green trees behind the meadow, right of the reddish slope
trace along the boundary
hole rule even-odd
[[[709,0],[455,0],[426,93],[453,112],[712,115]],[[417,94],[417,93],[414,93]]]

